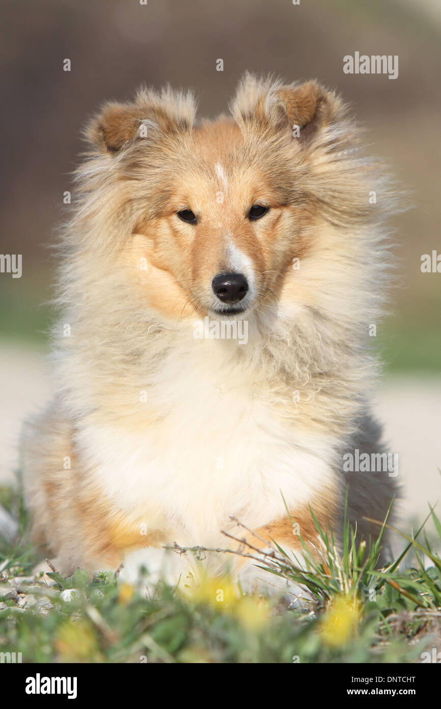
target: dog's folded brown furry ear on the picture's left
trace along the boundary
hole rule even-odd
[[[191,130],[196,106],[193,95],[172,91],[160,94],[141,89],[133,103],[110,102],[90,121],[86,140],[103,152],[117,153],[139,138],[158,138]]]

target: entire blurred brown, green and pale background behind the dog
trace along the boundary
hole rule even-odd
[[[337,89],[368,130],[370,151],[411,190],[394,220],[399,284],[377,328],[386,375],[376,404],[415,519],[441,497],[441,274],[438,250],[441,4],[437,0],[1,0],[0,483],[13,480],[21,420],[49,396],[44,354],[53,257],[81,127],[139,84],[192,88],[200,115],[226,111],[246,70]],[[343,56],[399,55],[399,77],[343,74]],[[65,59],[71,71],[63,70]],[[223,72],[216,70],[224,61]]]

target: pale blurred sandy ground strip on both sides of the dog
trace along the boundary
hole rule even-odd
[[[13,483],[21,422],[50,396],[42,354],[0,346],[0,484]],[[428,502],[441,501],[441,377],[384,379],[377,415],[384,422],[390,450],[399,454],[405,497],[404,518],[422,518]]]

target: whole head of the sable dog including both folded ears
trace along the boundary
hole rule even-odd
[[[240,318],[277,301],[311,240],[308,146],[339,106],[314,82],[247,77],[232,118],[197,125],[171,92],[104,109],[89,137],[127,194],[127,255],[151,306]]]

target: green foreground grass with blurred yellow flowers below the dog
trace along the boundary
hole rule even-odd
[[[159,585],[152,598],[81,569],[69,579],[54,570],[47,586],[31,574],[38,559],[25,542],[21,497],[0,489],[0,503],[20,526],[15,544],[0,545],[0,652],[21,652],[23,662],[412,663],[440,647],[441,559],[423,527],[414,537],[396,531],[406,549],[380,570],[379,544],[358,541],[348,523],[339,552],[316,522],[320,558],[305,547],[303,567],[277,545],[262,551],[258,538],[242,545],[269,582],[275,574],[307,589],[302,606],[288,609],[228,579],[202,579],[185,595]],[[434,510],[428,517],[441,543],[440,520]],[[409,552],[414,564],[401,569]]]

